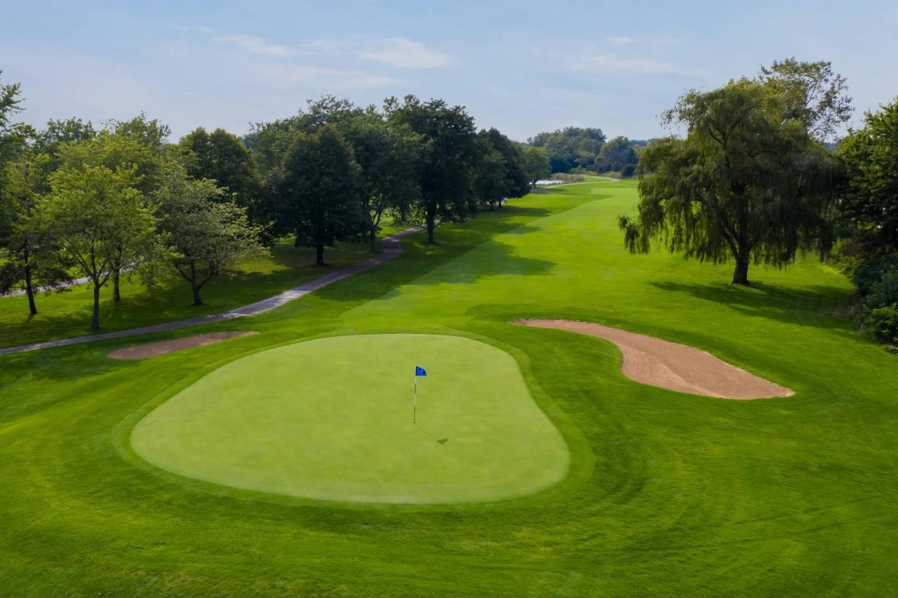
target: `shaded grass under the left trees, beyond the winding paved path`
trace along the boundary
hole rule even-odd
[[[203,287],[204,304],[198,307],[193,305],[190,286],[180,277],[167,278],[152,289],[137,277],[126,277],[119,303],[112,301],[111,282],[101,288],[101,331],[225,312],[368,257],[365,243],[341,244],[325,251],[328,268],[318,268],[314,250],[295,249],[292,243],[280,242],[269,257],[244,261],[238,270],[213,278]],[[35,299],[38,315],[34,318],[29,317],[24,295],[0,297],[0,347],[90,334],[92,293],[92,286],[80,285],[64,293],[40,294]]]

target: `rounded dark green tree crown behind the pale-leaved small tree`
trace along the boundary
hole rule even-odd
[[[187,171],[191,177],[215,180],[225,189],[219,200],[245,207],[255,219],[259,218],[259,169],[250,149],[237,136],[223,128],[207,133],[200,127],[181,138],[178,145],[190,156]]]

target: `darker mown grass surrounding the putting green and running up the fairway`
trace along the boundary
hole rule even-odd
[[[112,342],[0,358],[0,588],[882,594],[898,543],[898,362],[832,315],[850,289],[811,260],[756,268],[762,284],[734,288],[729,268],[624,254],[614,219],[634,201],[626,182],[546,190],[442,227],[436,247],[418,235],[372,272],[207,328],[252,337],[144,362],[107,359]],[[633,383],[611,344],[506,323],[522,316],[690,343],[797,395]],[[557,487],[490,505],[328,505],[188,482],[129,449],[154,397],[236,356],[322,334],[453,330],[517,358],[571,451]]]

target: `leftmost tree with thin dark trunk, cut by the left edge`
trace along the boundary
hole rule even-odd
[[[6,165],[6,186],[0,197],[0,295],[21,286],[31,315],[37,315],[34,296],[39,288],[63,286],[71,277],[56,259],[52,242],[41,234],[35,213],[44,199],[48,154],[27,153]]]

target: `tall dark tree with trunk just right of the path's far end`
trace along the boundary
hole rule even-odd
[[[405,125],[422,138],[420,207],[427,224],[427,242],[434,242],[437,219],[463,218],[477,209],[472,187],[477,133],[474,119],[462,106],[443,100],[422,102],[407,95],[401,105],[394,98],[385,110],[397,125]]]

